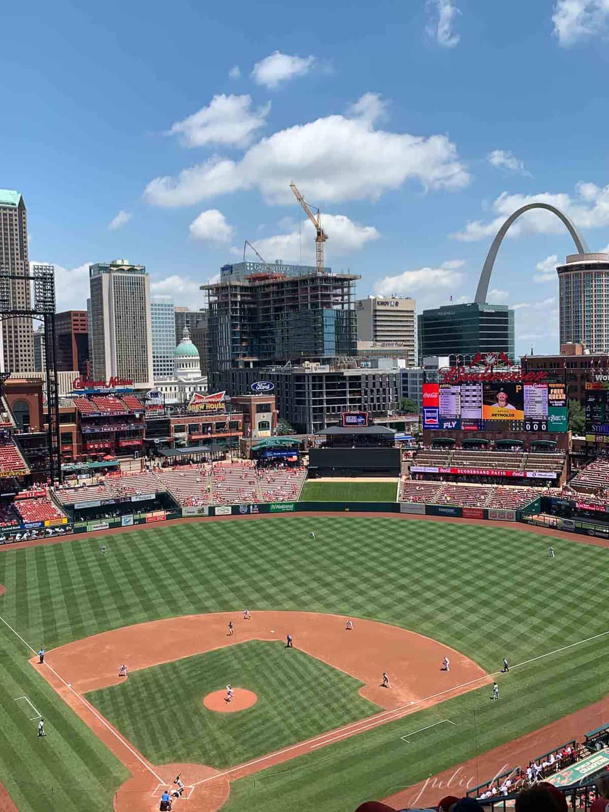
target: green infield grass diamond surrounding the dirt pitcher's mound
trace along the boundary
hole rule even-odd
[[[205,695],[229,682],[235,693],[256,693],[256,704],[209,711]],[[87,698],[153,764],[221,768],[380,711],[357,693],[361,686],[283,641],[249,641],[134,672]]]

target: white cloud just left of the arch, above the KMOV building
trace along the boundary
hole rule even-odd
[[[419,268],[404,270],[396,276],[385,276],[374,283],[374,293],[380,296],[391,296],[400,293],[412,296],[417,300],[417,309],[437,307],[449,304],[450,296],[455,296],[465,274],[459,270],[464,266],[463,260],[449,260],[438,268]]]

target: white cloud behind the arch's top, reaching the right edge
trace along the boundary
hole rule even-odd
[[[601,188],[596,184],[577,184],[576,194],[571,197],[566,192],[538,195],[508,194],[502,192],[491,208],[498,215],[489,222],[472,220],[466,223],[463,231],[451,236],[462,242],[486,240],[494,237],[503,222],[516,209],[529,203],[548,203],[562,211],[578,228],[590,229],[609,226],[609,185]],[[508,231],[508,237],[530,234],[564,234],[565,227],[559,218],[544,209],[533,209],[521,215]]]

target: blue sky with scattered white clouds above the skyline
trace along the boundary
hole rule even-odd
[[[30,259],[84,307],[87,265],[145,264],[198,286],[244,240],[312,261],[288,188],[322,209],[326,265],[358,294],[472,300],[499,224],[543,200],[609,244],[609,0],[12,3],[0,187],[23,193]],[[11,114],[6,115],[10,110]],[[490,301],[517,349],[557,348],[563,225],[529,213]]]

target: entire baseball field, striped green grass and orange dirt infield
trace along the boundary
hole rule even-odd
[[[187,812],[351,812],[585,706],[607,723],[607,555],[317,515],[7,547],[0,782],[21,812],[148,812],[175,768]],[[227,683],[253,704],[210,708]]]

